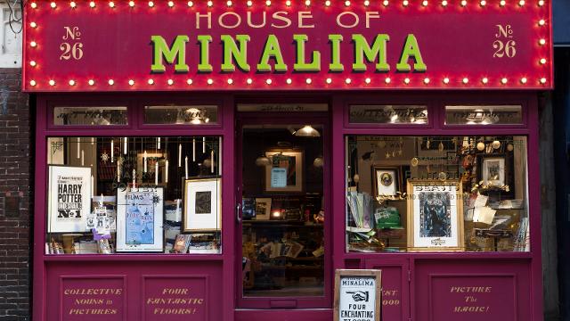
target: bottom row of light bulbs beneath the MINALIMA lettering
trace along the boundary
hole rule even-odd
[[[509,78],[501,78],[499,81],[500,81],[500,83],[501,83],[502,85],[507,85],[507,84],[509,83]],[[525,85],[525,84],[528,83],[528,78],[523,77],[523,78],[520,78],[518,81],[519,81],[521,84]],[[538,79],[538,82],[541,83],[542,85],[546,84],[547,81],[548,81],[547,78],[540,78],[540,79]],[[207,84],[210,85],[210,86],[211,86],[211,85],[214,85],[214,79],[212,79],[212,78],[208,78],[208,80],[207,80],[206,82],[207,82]],[[232,78],[227,79],[226,82],[227,82],[228,85],[233,85],[233,79],[232,79]],[[287,83],[287,85],[293,84],[293,80],[292,80],[291,78],[287,78],[285,82]],[[329,84],[329,85],[332,84],[332,78],[326,78],[326,79],[325,79],[325,82],[326,82],[327,84]],[[371,79],[371,78],[365,78],[365,79],[364,79],[364,82],[365,82],[366,84],[370,84],[370,83],[372,82],[372,79]],[[389,77],[384,78],[384,82],[385,82],[386,84],[390,84],[390,83],[392,82],[392,78],[389,78]],[[450,84],[451,79],[450,79],[450,78],[444,78],[444,79],[442,79],[442,82],[443,82],[445,85],[448,85],[448,84]],[[466,77],[466,78],[461,78],[461,79],[460,79],[460,82],[463,83],[464,85],[468,85],[468,83],[469,83],[469,78],[467,78],[467,77]],[[115,85],[115,80],[114,80],[114,79],[109,79],[109,80],[107,81],[107,83],[109,84],[109,86],[113,86],[113,85]],[[149,85],[154,85],[155,81],[154,81],[154,79],[148,79],[148,80],[147,80],[147,83],[148,83]],[[252,79],[252,78],[248,78],[248,79],[246,80],[246,83],[247,83],[248,85],[252,85],[252,84],[253,84],[253,79]],[[306,83],[307,85],[311,85],[311,84],[313,83],[313,79],[311,79],[311,78],[306,78],[306,79],[305,79],[305,83]],[[351,78],[345,78],[345,83],[346,83],[346,85],[350,85],[350,84],[353,83],[353,79],[351,79]],[[411,83],[411,78],[403,78],[403,83],[404,83],[405,85],[409,85],[409,84]],[[423,79],[423,83],[426,84],[426,85],[428,85],[428,84],[431,83],[431,79],[430,79],[430,78],[424,78],[424,79]],[[489,78],[486,78],[486,77],[481,78],[481,83],[482,83],[483,85],[489,84]],[[50,79],[50,80],[48,81],[48,84],[49,84],[50,86],[55,86],[55,80]],[[77,81],[71,79],[71,80],[69,80],[68,84],[69,84],[69,86],[76,86],[76,85],[77,85]],[[94,85],[95,85],[94,79],[89,79],[89,80],[87,80],[87,84],[89,84],[89,86],[94,86]],[[167,84],[168,84],[168,86],[173,86],[173,85],[175,84],[175,81],[174,81],[173,79],[168,79],[168,80],[167,80]],[[192,85],[192,84],[193,84],[192,79],[187,79],[187,80],[186,80],[186,84]],[[272,84],[273,84],[273,79],[272,79],[272,78],[267,78],[267,79],[265,79],[265,84],[267,84],[267,85],[272,85]],[[30,86],[37,86],[37,81],[36,81],[36,80],[30,80],[30,81],[29,81],[29,85],[30,85]],[[129,85],[129,86],[134,86],[134,80],[133,80],[133,79],[129,79],[129,80],[128,80],[128,85]]]

